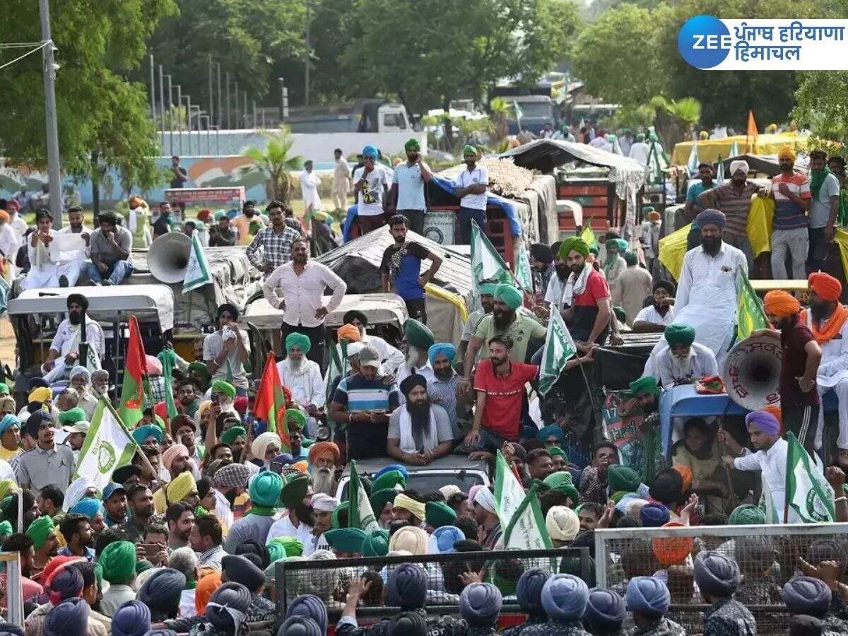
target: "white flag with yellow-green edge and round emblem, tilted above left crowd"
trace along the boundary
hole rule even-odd
[[[106,484],[112,481],[114,469],[129,464],[137,449],[136,440],[127,432],[112,405],[101,398],[82,444],[74,479],[83,475],[91,477],[92,485],[103,492]]]

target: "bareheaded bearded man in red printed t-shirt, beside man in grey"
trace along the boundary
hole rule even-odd
[[[477,401],[474,423],[466,435],[468,448],[499,449],[504,442],[518,440],[524,386],[536,377],[538,366],[511,361],[510,349],[510,338],[494,336],[488,341],[488,360],[477,365],[474,374]]]

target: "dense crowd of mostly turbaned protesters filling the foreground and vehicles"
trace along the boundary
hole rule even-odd
[[[25,633],[321,636],[338,616],[341,636],[483,636],[501,625],[505,602],[527,615],[510,636],[777,633],[758,626],[747,605],[794,615],[781,626],[790,633],[848,632],[846,559],[837,540],[813,541],[789,561],[762,542],[752,551],[741,535],[735,545],[705,540],[683,548],[678,539],[633,541],[609,555],[617,566],[611,589],[595,589],[594,569],[579,572],[568,559],[560,572],[520,556],[488,559],[487,552],[505,547],[510,522],[494,485],[422,490],[416,479],[421,466],[456,455],[485,462],[494,484],[503,479],[496,468],[502,456],[522,488],[538,494],[539,529],[553,549],[586,548],[602,558],[595,532],[604,528],[754,526],[773,522],[769,509],[787,509],[779,522],[801,521],[786,500],[785,436],[792,432],[811,456],[833,455],[823,471],[825,499],[834,521],[848,522],[841,468],[848,467],[848,315],[840,282],[823,272],[809,273],[805,310],[789,293],[768,293],[764,310],[773,328],[752,334],[783,349],[780,407],[753,411],[735,427],[729,418],[676,422],[671,452],[656,453],[661,393],[716,377],[733,342],[739,274],[750,267],[746,239],[737,233],[746,215],[739,198],[747,166],[736,166],[745,178],[734,174],[729,187],[710,189],[703,180],[687,205],[696,233],[677,284],[653,266],[659,215],[646,208],[642,232],[630,240],[609,232],[600,244],[570,237],[527,246],[533,293],[479,281],[478,308],[454,343],[438,342],[427,325],[425,287],[438,277],[443,256],[408,238],[421,222],[419,189],[432,174],[414,140],[407,154],[391,185],[374,148],[363,150],[363,165],[353,171],[362,231],[393,237],[379,270],[382,289],[398,293],[410,315],[399,343],[370,332],[369,316],[356,309],[328,339],[326,316],[348,283],[310,259],[307,232],[282,203],[268,204],[267,220],[250,204],[209,231],[209,244],[226,236],[246,246],[265,298],[282,310],[283,357],[272,377],[280,379],[284,404],[267,404],[265,375],[248,365],[240,308],[221,304],[214,332],[198,338],[192,360],[170,346],[148,351],[153,399],[129,408],[114,392],[119,378],[90,371],[80,359],[83,323],[98,359],[105,339],[86,317],[85,294],[68,296],[47,360],[21,372],[14,387],[0,383],[0,541],[3,551],[20,553]],[[782,166],[788,162],[782,154]],[[177,159],[175,178],[178,168]],[[471,220],[486,222],[488,176],[476,148],[466,148],[466,170],[455,185],[462,232],[470,237]],[[806,211],[806,187],[794,176],[776,180],[773,196],[780,197],[778,219],[798,221],[789,204]],[[130,209],[142,203],[133,200]],[[81,272],[103,285],[131,275],[140,215],[126,229],[103,213],[98,229],[88,231],[79,209],[67,214],[68,231],[86,237],[86,258],[60,266],[50,260],[47,210],[36,212],[32,232],[20,228],[20,216],[0,213],[0,239],[5,228],[31,236],[23,288],[73,286]],[[153,237],[176,229],[169,217],[163,204]],[[794,258],[800,253],[793,249],[787,254]],[[556,314],[576,351],[541,395],[540,372],[550,371],[544,344]],[[619,444],[605,438],[595,405],[605,398],[599,347],[621,343],[627,332],[654,332],[659,342],[620,407],[643,422],[642,451],[625,461]],[[337,355],[342,368],[333,376],[327,360]],[[825,444],[820,406],[831,390],[839,399],[835,453]],[[171,399],[176,413],[169,413]],[[86,436],[103,400],[122,415],[137,414],[123,422],[135,443],[132,458],[106,485],[78,474],[92,452]],[[344,482],[351,460],[375,459],[383,460],[379,470]],[[354,489],[364,494],[351,501]],[[456,553],[468,554],[415,562]],[[404,563],[349,561],[385,556]],[[335,560],[344,561],[326,563]],[[324,563],[294,566],[281,603],[278,566],[299,561]],[[427,605],[458,609],[437,616]],[[679,605],[706,607],[700,616]],[[373,607],[399,611],[360,627],[368,622],[360,610]]]

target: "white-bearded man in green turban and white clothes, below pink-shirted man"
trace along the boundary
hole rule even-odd
[[[306,437],[315,439],[318,432],[318,418],[321,417],[326,394],[321,379],[321,367],[317,362],[307,359],[312,343],[302,333],[292,332],[286,337],[286,357],[276,363],[280,382],[292,391],[292,399],[309,414],[306,422]]]

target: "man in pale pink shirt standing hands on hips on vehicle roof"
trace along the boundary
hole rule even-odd
[[[262,283],[262,292],[271,307],[283,310],[282,337],[298,332],[310,338],[310,360],[324,364],[324,319],[342,303],[348,284],[326,265],[309,259],[310,247],[304,238],[292,243],[292,260],[280,265]],[[324,306],[324,288],[332,298]],[[278,292],[282,291],[282,298]]]

